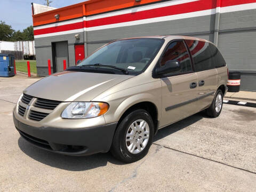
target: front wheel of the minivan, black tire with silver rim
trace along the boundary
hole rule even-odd
[[[143,129],[138,129],[142,125],[145,125]],[[147,155],[153,137],[154,123],[149,113],[143,109],[134,110],[126,115],[117,126],[110,152],[124,163],[138,161]]]

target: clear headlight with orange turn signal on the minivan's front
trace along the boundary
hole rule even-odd
[[[103,102],[71,102],[63,110],[62,118],[92,118],[105,114],[109,105]]]

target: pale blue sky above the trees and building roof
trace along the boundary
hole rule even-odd
[[[85,2],[85,0],[51,0],[52,7],[60,8]],[[31,3],[45,4],[44,0],[0,0],[0,20],[14,30],[23,30],[33,25]]]

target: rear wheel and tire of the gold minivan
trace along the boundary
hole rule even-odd
[[[206,109],[206,115],[209,117],[218,117],[221,113],[222,105],[223,105],[223,93],[221,90],[217,90],[211,106]]]

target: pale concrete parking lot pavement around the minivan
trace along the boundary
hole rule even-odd
[[[0,77],[0,191],[256,191],[256,108],[188,117],[159,130],[145,158],[123,164],[109,153],[63,156],[20,138],[12,109],[37,80]]]

